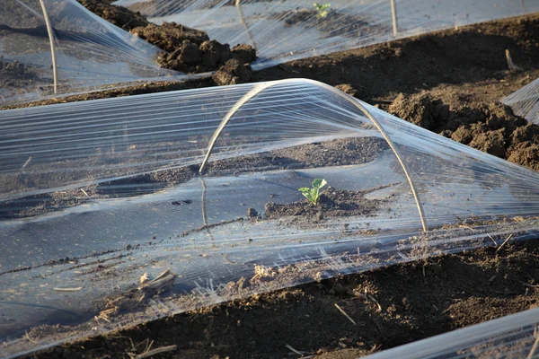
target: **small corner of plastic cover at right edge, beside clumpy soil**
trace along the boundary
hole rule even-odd
[[[510,106],[516,115],[539,124],[539,78],[511,93],[501,102]]]

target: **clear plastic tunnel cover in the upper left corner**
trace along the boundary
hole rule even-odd
[[[0,103],[180,79],[159,68],[157,52],[75,0],[2,0]]]

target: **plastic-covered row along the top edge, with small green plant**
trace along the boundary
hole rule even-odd
[[[537,0],[119,0],[156,23],[246,43],[254,69],[392,39],[539,11]]]

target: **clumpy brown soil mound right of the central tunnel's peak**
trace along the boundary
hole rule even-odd
[[[461,144],[539,170],[539,126],[499,102],[446,104],[426,92],[401,93],[388,110]]]

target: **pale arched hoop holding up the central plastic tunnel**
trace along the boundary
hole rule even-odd
[[[408,180],[408,183],[410,184],[411,194],[413,195],[416,202],[416,206],[418,207],[418,212],[420,214],[420,220],[421,220],[421,225],[423,226],[423,231],[428,232],[429,227],[427,226],[427,222],[425,220],[423,206],[421,205],[420,197],[416,191],[413,180],[411,180],[411,175],[410,175],[410,171],[408,170],[408,166],[406,166],[406,163],[402,160],[401,153],[399,153],[399,150],[397,149],[395,144],[393,144],[392,139],[385,132],[384,127],[380,125],[378,120],[365,108],[365,106],[363,106],[358,101],[353,100],[351,97],[349,97],[349,95],[345,94],[344,92],[341,92],[340,90],[326,83],[319,83],[314,80],[308,80],[308,79],[286,79],[286,80],[280,80],[280,81],[275,81],[271,83],[257,83],[250,92],[245,93],[243,97],[239,101],[237,101],[231,109],[228,110],[225,117],[221,120],[219,127],[216,128],[216,132],[213,134],[213,136],[211,137],[209,141],[208,152],[206,153],[206,157],[204,157],[204,161],[202,161],[202,164],[200,165],[199,174],[202,174],[204,172],[204,168],[206,167],[206,163],[208,162],[209,156],[211,152],[213,151],[213,148],[216,144],[217,139],[219,138],[219,136],[221,136],[223,129],[228,124],[228,122],[230,122],[230,119],[234,116],[234,114],[239,109],[241,109],[244,104],[250,101],[257,94],[263,92],[264,90],[267,90],[270,87],[273,87],[278,84],[283,84],[283,83],[308,83],[308,84],[313,84],[315,86],[318,86],[324,90],[327,90],[339,96],[341,99],[345,101],[349,101],[349,103],[351,103],[356,108],[358,108],[361,112],[365,114],[365,116],[367,116],[368,119],[371,120],[371,122],[375,125],[375,127],[378,129],[378,131],[380,131],[380,133],[384,137],[384,140],[387,142],[387,144],[389,144],[389,147],[392,149],[393,153],[397,157],[397,160],[401,164],[402,171],[404,171],[404,175],[406,176],[406,180]]]

